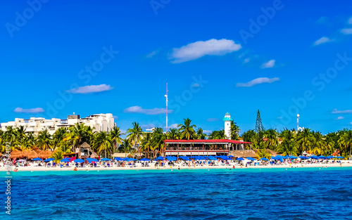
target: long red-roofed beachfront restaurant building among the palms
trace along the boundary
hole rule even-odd
[[[164,156],[230,155],[234,150],[251,148],[251,142],[227,139],[211,140],[165,140]]]

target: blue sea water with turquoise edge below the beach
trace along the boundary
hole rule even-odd
[[[352,218],[348,167],[12,174],[0,219]]]

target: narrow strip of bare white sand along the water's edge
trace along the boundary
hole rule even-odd
[[[285,164],[285,165],[257,165],[257,166],[234,166],[233,165],[225,165],[225,166],[196,166],[196,167],[188,167],[188,166],[180,166],[180,169],[276,169],[276,168],[328,168],[328,167],[352,167],[352,163],[342,163],[340,164]],[[11,167],[11,172],[15,167]],[[48,172],[48,171],[72,171],[74,172],[75,167],[16,167],[18,172]],[[110,171],[118,171],[118,170],[168,170],[168,169],[178,169],[178,166],[166,166],[166,167],[77,167],[77,171],[99,171],[99,170],[110,170]],[[0,172],[5,172],[5,167],[0,167]]]

